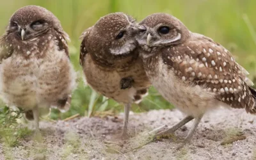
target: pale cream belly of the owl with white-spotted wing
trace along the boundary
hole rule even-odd
[[[146,72],[152,85],[164,99],[187,115],[196,117],[209,108],[217,107],[214,93],[181,81],[161,58],[154,67],[148,65]]]

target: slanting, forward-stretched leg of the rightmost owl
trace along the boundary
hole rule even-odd
[[[177,131],[177,129],[179,129],[180,127],[187,124],[189,121],[193,119],[193,116],[186,116],[183,120],[181,120],[178,124],[173,125],[173,127],[171,127],[170,129],[167,129],[166,131],[159,132],[158,134],[156,134],[155,139],[161,139],[172,136],[173,132]]]

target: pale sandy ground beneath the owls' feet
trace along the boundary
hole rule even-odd
[[[40,122],[42,137],[28,137],[15,148],[0,144],[0,159],[256,159],[256,116],[243,109],[218,109],[206,114],[192,143],[180,150],[176,147],[192,122],[175,132],[172,139],[143,145],[150,140],[149,131],[161,125],[172,126],[183,117],[177,110],[132,113],[129,140],[118,138],[123,115]],[[221,145],[241,134],[246,136],[245,140]]]

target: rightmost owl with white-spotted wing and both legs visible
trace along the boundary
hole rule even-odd
[[[207,36],[191,31],[172,15],[155,13],[141,23],[136,37],[147,76],[163,97],[186,118],[159,136],[171,134],[195,118],[190,141],[204,113],[225,106],[256,113],[256,92],[248,72],[232,54]]]

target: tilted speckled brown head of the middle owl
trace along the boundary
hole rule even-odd
[[[124,56],[136,48],[135,35],[141,29],[136,20],[125,13],[110,13],[101,17],[92,28],[87,29],[82,38],[86,49],[96,56]]]

